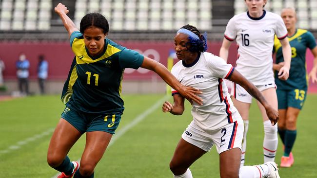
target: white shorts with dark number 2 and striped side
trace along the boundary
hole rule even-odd
[[[218,154],[232,148],[240,148],[243,137],[243,121],[236,121],[217,130],[203,130],[194,121],[188,125],[181,138],[204,151],[216,145]]]

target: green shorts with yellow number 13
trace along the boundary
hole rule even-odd
[[[307,95],[307,89],[282,90],[277,88],[278,109],[295,107],[301,109]]]

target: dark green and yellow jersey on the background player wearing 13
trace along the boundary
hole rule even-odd
[[[297,29],[293,36],[288,36],[288,39],[292,49],[290,75],[284,81],[278,79],[278,72],[275,72],[277,89],[307,89],[306,50],[316,47],[315,37],[307,30]],[[277,37],[274,40],[274,51],[276,52],[276,63],[283,62],[282,48]]]

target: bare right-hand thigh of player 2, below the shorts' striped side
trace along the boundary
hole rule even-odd
[[[221,178],[238,178],[241,149],[233,148],[219,154],[220,177]]]

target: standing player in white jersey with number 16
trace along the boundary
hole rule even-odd
[[[236,69],[252,82],[262,93],[268,103],[277,109],[277,93],[272,70],[272,51],[274,36],[281,42],[284,66],[279,70],[280,79],[289,76],[291,47],[287,30],[282,18],[277,14],[263,9],[266,0],[245,0],[248,11],[231,18],[227,24],[219,56],[228,58],[229,47],[236,39],[238,44],[238,59]],[[241,166],[244,164],[246,150],[246,135],[249,125],[249,109],[252,96],[240,85],[234,84],[231,95],[244,121],[242,141]],[[264,125],[263,153],[264,162],[274,161],[277,150],[277,125],[271,125],[264,107],[258,102]]]

